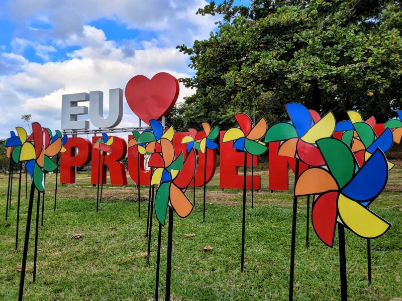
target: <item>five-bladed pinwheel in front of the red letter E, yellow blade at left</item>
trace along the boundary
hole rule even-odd
[[[260,139],[266,133],[268,124],[265,118],[261,118],[255,126],[250,117],[239,113],[235,115],[240,127],[232,127],[223,135],[223,142],[233,141],[233,148],[239,149],[251,155],[262,155],[268,147]]]

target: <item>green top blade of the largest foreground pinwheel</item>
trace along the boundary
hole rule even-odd
[[[355,160],[350,147],[336,138],[317,140],[328,169],[342,189],[355,174]]]

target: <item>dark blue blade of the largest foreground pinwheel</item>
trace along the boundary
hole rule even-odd
[[[367,202],[375,199],[388,180],[388,164],[384,153],[377,148],[352,180],[342,189],[348,198]]]

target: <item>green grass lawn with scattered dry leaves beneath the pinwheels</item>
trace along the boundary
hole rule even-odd
[[[219,174],[207,185],[207,216],[203,222],[202,190],[186,219],[174,217],[172,285],[174,300],[285,300],[288,297],[292,192],[270,193],[267,172],[258,170],[263,189],[250,193],[246,217],[245,272],[240,272],[241,202],[238,190],[219,187]],[[386,191],[371,208],[392,223],[371,242],[373,283],[367,283],[366,241],[346,230],[350,300],[400,300],[402,297],[402,171],[390,172]],[[13,203],[5,221],[8,175],[0,176],[0,300],[18,295],[27,218],[25,185],[21,201],[19,248],[15,250],[17,177]],[[147,202],[138,218],[137,191],[104,188],[96,214],[96,188],[88,174],[79,174],[76,187],[59,186],[53,212],[55,176],[47,176],[44,226],[39,227],[37,281],[32,282],[35,216],[31,225],[25,284],[26,300],[151,300],[154,296],[157,223],[153,219],[150,264],[146,262]],[[131,180],[129,180],[131,181]],[[291,184],[290,184],[291,187]],[[148,196],[148,188],[142,187]],[[192,188],[188,195],[192,199]],[[34,210],[36,212],[36,200]],[[82,233],[79,239],[71,239]],[[195,234],[184,238],[184,234]],[[167,227],[162,231],[160,299],[164,299]],[[337,237],[333,249],[310,228],[306,248],[306,198],[297,209],[295,286],[298,300],[339,300]],[[204,252],[207,245],[214,249]]]

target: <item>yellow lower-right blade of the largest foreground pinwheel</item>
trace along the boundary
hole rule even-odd
[[[386,220],[343,194],[338,197],[338,212],[343,223],[363,238],[376,238],[391,227]]]

